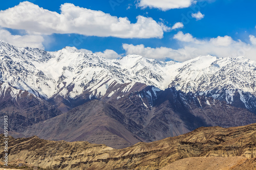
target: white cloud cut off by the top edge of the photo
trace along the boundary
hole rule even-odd
[[[140,0],[138,6],[142,8],[158,8],[166,11],[169,9],[187,8],[194,2],[194,0]]]

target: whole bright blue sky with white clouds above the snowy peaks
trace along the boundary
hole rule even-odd
[[[47,51],[75,46],[111,59],[139,54],[185,61],[210,54],[256,60],[255,7],[253,0],[2,1],[0,39]]]

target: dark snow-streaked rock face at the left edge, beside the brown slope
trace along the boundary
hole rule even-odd
[[[0,84],[0,118],[9,117],[9,128],[13,132],[22,132],[28,126],[61,114],[57,108],[45,100],[9,83]],[[0,127],[3,126],[1,121]]]

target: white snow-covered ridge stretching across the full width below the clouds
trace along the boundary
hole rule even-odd
[[[47,52],[0,41],[0,64],[0,81],[46,99],[54,94],[76,98],[85,90],[99,96],[115,84],[135,82],[200,94],[215,90],[212,96],[221,89],[228,95],[236,89],[256,94],[256,62],[244,57],[200,56],[182,63],[138,55],[109,60],[75,47]]]

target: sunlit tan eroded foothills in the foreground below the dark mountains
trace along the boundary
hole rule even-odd
[[[1,141],[3,138],[1,135]],[[2,160],[3,145],[1,142]],[[235,160],[240,158],[233,158],[232,161],[244,169],[253,169],[256,157],[256,124],[232,128],[202,127],[184,135],[151,143],[140,142],[120,150],[102,144],[50,141],[36,136],[18,139],[10,137],[9,148],[9,161],[21,159],[42,168],[159,169],[184,158],[208,158],[214,164],[215,157],[225,159],[242,156],[243,162]],[[218,163],[221,162],[224,161]]]

